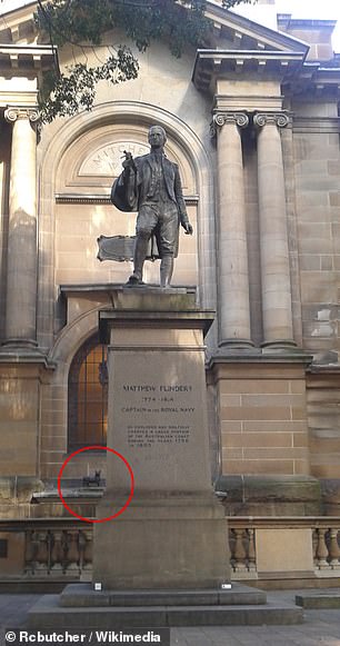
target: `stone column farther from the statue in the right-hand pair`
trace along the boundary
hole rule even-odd
[[[283,112],[254,115],[258,126],[258,186],[262,282],[263,347],[294,346],[286,189],[280,128]]]

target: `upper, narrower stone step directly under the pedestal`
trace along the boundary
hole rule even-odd
[[[102,590],[91,584],[70,584],[60,595],[62,607],[133,606],[234,606],[266,604],[267,594],[250,586],[232,584],[216,590]]]

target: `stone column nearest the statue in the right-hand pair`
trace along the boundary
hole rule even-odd
[[[252,346],[240,137],[240,128],[248,122],[248,116],[242,112],[217,112],[213,117],[213,132],[218,130],[219,345],[236,349]]]

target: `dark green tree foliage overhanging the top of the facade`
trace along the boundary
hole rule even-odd
[[[222,0],[222,6],[250,1]],[[100,80],[114,85],[138,76],[138,60],[128,47],[114,47],[113,30],[123,32],[141,52],[152,40],[163,40],[171,53],[180,57],[188,44],[198,47],[207,40],[211,26],[204,9],[206,0],[38,0],[36,22],[44,40],[59,47],[80,47],[84,52],[86,48],[101,44],[106,34],[109,51],[101,66],[76,62],[66,72],[44,74],[40,92],[42,122],[81,109],[91,110]],[[112,42],[108,42],[110,38]]]

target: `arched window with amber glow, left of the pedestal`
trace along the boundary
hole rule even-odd
[[[107,346],[92,337],[73,357],[69,372],[69,450],[107,444]]]

